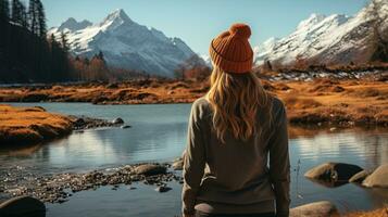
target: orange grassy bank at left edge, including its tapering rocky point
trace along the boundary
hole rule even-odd
[[[65,116],[43,107],[15,107],[0,104],[0,148],[24,146],[59,139],[73,130],[99,127],[129,127],[116,118],[104,120],[91,117]]]

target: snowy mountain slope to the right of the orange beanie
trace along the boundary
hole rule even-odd
[[[254,48],[255,64],[364,63],[388,42],[388,0],[373,0],[354,16],[312,14],[289,36]]]

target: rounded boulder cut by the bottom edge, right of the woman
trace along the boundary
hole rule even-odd
[[[290,209],[290,217],[327,217],[338,216],[337,207],[328,201],[320,201]]]

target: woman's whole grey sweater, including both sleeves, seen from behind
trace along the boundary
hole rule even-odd
[[[288,216],[287,116],[276,98],[272,98],[268,112],[273,124],[261,135],[248,141],[226,135],[222,143],[212,127],[208,100],[201,98],[192,104],[183,171],[184,214],[193,214],[195,208],[218,214],[267,213],[275,212],[271,206],[275,203],[276,215]],[[258,125],[268,112],[258,112]]]

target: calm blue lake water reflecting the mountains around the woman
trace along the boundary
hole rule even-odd
[[[113,119],[122,117],[129,129],[104,128],[74,132],[48,144],[22,150],[1,150],[0,170],[20,166],[26,173],[55,174],[89,171],[141,162],[171,162],[180,156],[186,143],[190,104],[92,105],[88,103],[11,103],[39,105],[50,112]],[[375,168],[388,163],[387,129],[290,128],[291,206],[327,200],[342,212],[371,209],[388,203],[388,190],[364,189],[356,184],[327,188],[303,177],[311,167],[325,162],[356,164]],[[1,184],[0,180],[0,184]],[[180,210],[182,186],[158,193],[154,187],[103,187],[77,192],[63,204],[47,204],[47,216],[174,216]]]

